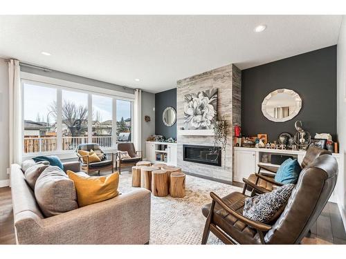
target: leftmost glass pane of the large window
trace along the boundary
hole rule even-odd
[[[25,84],[23,92],[24,153],[57,150],[56,117],[51,111],[57,101],[57,90]]]

